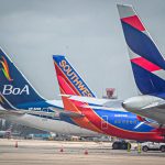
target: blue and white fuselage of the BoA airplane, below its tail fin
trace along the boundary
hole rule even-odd
[[[45,101],[37,101],[37,102],[29,102],[29,103],[22,103],[16,105],[16,108],[21,111],[23,110],[35,110],[35,111],[52,111],[50,107],[57,108],[58,110],[63,109],[63,103],[61,100],[45,100]],[[55,113],[54,113],[55,114]],[[92,132],[90,130],[80,128],[74,122],[72,122],[70,119],[64,119],[65,121],[61,120],[58,116],[46,116],[46,114],[31,114],[25,113],[21,116],[14,116],[14,114],[4,114],[1,116],[1,118],[9,120],[14,123],[19,123],[22,125],[48,131],[48,132],[55,132],[58,134],[68,134],[68,135],[80,135],[80,136],[99,136],[100,134],[97,132]]]

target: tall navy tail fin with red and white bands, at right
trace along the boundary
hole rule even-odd
[[[165,61],[132,6],[118,4],[136,86],[143,95],[165,92]]]

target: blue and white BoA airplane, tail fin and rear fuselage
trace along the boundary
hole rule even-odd
[[[46,100],[0,48],[0,118],[57,134],[98,136],[77,127],[64,112],[62,100]]]

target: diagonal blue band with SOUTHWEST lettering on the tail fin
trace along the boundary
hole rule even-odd
[[[94,94],[90,91],[87,85],[81,80],[81,78],[66,59],[63,58],[56,62],[58,67],[63,70],[63,73],[67,76],[69,81],[74,85],[74,87],[76,87],[81,96],[94,97]]]

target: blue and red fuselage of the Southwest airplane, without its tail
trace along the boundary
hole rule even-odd
[[[131,112],[88,108],[81,109],[81,113],[102,134],[135,141],[165,142],[165,130],[155,129],[139,121],[138,117]]]

